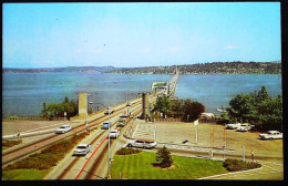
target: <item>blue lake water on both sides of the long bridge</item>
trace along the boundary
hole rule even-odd
[[[39,115],[43,102],[60,103],[64,96],[78,99],[78,92],[91,93],[94,111],[101,104],[115,105],[137,93],[151,91],[154,81],[169,81],[172,75],[97,74],[97,73],[4,73],[2,74],[2,115]],[[197,100],[207,112],[227,107],[239,93],[259,91],[265,85],[270,95],[281,94],[280,75],[181,75],[175,95]],[[126,94],[127,93],[127,94]]]

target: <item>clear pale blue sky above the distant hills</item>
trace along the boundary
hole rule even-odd
[[[279,2],[3,3],[3,68],[281,60]]]

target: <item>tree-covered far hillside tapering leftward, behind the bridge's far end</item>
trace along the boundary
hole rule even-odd
[[[145,66],[112,70],[106,73],[172,74],[175,65]],[[177,65],[179,74],[280,74],[281,63],[276,62],[213,62]]]

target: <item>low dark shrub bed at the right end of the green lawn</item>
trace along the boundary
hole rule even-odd
[[[239,159],[225,159],[223,166],[229,172],[239,172],[261,167],[261,164],[256,162],[243,162]]]

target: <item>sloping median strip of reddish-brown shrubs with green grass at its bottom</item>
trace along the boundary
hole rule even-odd
[[[86,132],[73,135],[68,140],[62,140],[45,147],[41,153],[32,154],[14,164],[6,166],[2,168],[2,179],[42,179],[49,173],[50,168],[55,166],[86,135]],[[37,173],[38,176],[31,173]],[[25,177],[20,174],[25,175]]]

